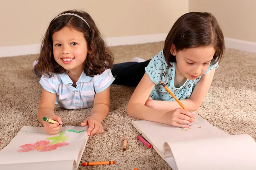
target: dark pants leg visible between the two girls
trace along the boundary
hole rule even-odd
[[[112,74],[116,78],[113,84],[137,86],[145,74],[145,67],[150,59],[144,62],[124,62],[115,64]]]

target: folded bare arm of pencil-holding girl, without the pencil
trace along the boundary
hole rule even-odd
[[[212,71],[210,71],[209,73],[202,75],[198,84],[195,86],[190,98],[180,100],[180,102],[186,107],[187,110],[196,111],[201,106],[211,86],[214,73],[215,68],[213,68]],[[181,108],[181,106],[176,101],[156,101],[149,99],[146,102],[146,105],[150,108],[165,111],[172,111],[175,108]]]

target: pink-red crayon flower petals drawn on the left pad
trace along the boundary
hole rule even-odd
[[[58,147],[67,146],[68,144],[69,143],[67,143],[67,142],[50,144],[50,142],[47,140],[41,140],[41,141],[37,141],[33,144],[23,144],[20,146],[22,149],[17,150],[17,151],[18,152],[30,152],[30,151],[37,150],[39,152],[47,152],[47,151],[55,150]]]

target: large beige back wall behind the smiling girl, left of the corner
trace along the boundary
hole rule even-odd
[[[69,9],[87,11],[105,37],[167,33],[189,11],[188,0],[0,1],[0,47],[40,43],[49,22]]]

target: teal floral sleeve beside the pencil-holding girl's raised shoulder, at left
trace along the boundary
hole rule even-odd
[[[163,68],[163,62],[158,59],[157,56],[153,57],[150,62],[148,63],[148,66],[145,67],[145,71],[156,85],[159,84],[161,80],[161,72]]]

